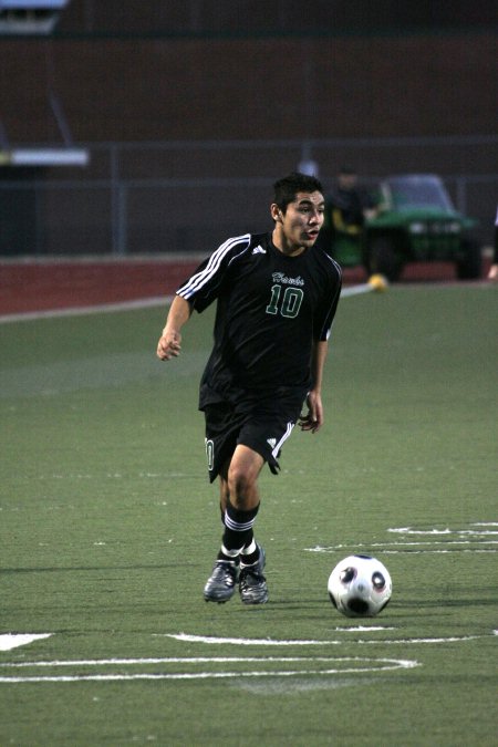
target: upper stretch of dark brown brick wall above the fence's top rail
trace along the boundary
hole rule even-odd
[[[494,33],[256,40],[9,40],[13,143],[384,137],[496,132]]]

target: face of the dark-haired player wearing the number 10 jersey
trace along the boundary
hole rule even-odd
[[[324,209],[325,200],[320,191],[299,191],[286,212],[272,205],[276,246],[286,255],[300,253],[312,247],[323,226]]]

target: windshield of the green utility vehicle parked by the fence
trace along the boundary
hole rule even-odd
[[[385,180],[384,191],[395,210],[413,208],[454,210],[449,195],[437,176],[392,177]]]

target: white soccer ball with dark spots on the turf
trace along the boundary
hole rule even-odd
[[[391,599],[393,584],[385,566],[370,556],[350,556],[329,577],[332,604],[346,618],[373,618]]]

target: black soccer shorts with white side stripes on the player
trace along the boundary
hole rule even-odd
[[[216,479],[239,444],[260,454],[277,475],[277,459],[298,422],[304,397],[305,392],[292,391],[271,398],[247,396],[235,405],[207,405],[204,412],[209,481]]]

